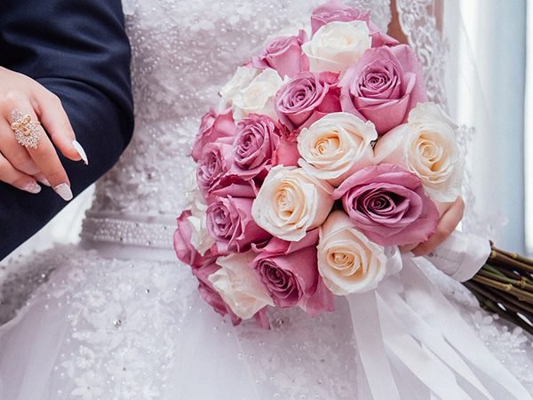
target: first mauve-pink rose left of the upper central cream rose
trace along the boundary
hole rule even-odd
[[[279,127],[270,116],[251,114],[237,124],[232,173],[243,180],[265,178],[280,142]]]

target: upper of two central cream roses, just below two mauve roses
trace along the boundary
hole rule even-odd
[[[299,164],[306,172],[331,185],[372,163],[374,124],[348,113],[332,113],[304,128],[298,135]]]

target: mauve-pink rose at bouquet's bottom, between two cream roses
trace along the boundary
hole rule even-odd
[[[326,289],[318,274],[317,243],[318,229],[314,229],[299,242],[274,237],[259,250],[259,255],[252,261],[252,268],[276,306],[299,306],[311,316],[333,310],[333,294]]]

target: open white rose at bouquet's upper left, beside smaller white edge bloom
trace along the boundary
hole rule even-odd
[[[256,76],[250,84],[234,96],[234,118],[240,121],[250,114],[266,114],[274,120],[274,96],[283,85],[282,77],[272,68],[267,68]]]

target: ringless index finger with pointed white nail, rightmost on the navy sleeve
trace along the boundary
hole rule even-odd
[[[85,164],[89,164],[84,148],[76,140],[76,134],[60,98],[43,86],[36,90],[34,98],[36,114],[61,154],[73,161],[83,160]]]

